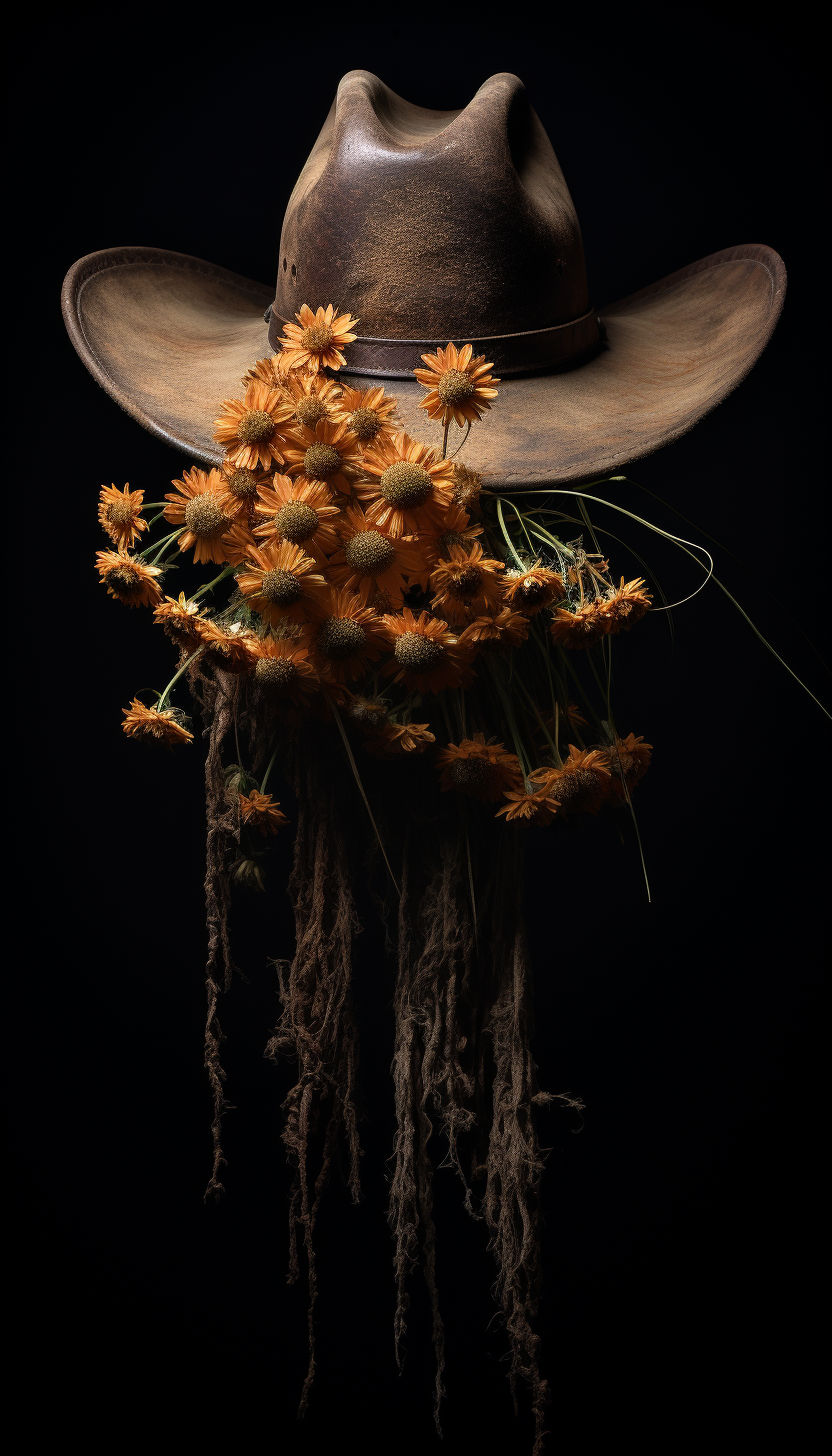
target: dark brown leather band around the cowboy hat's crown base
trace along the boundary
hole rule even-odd
[[[283,320],[272,310],[268,326],[268,342],[277,352],[281,347]],[[532,329],[526,333],[494,333],[481,339],[459,339],[458,348],[471,344],[474,354],[485,354],[494,364],[500,379],[510,374],[532,374],[536,370],[564,367],[583,363],[594,354],[603,339],[603,326],[594,309],[580,319],[557,323],[551,329]],[[357,335],[348,348],[347,373],[370,374],[380,379],[409,379],[421,364],[423,354],[434,354],[446,348],[441,339],[369,339]]]

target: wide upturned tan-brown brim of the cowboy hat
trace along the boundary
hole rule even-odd
[[[747,245],[602,309],[605,348],[573,370],[506,380],[466,441],[466,464],[498,489],[523,491],[609,475],[659,450],[745,379],[784,296],[782,259]],[[162,440],[216,464],[213,421],[223,399],[239,397],[254,361],[271,352],[264,312],[272,297],[265,284],[197,258],[111,248],[70,268],[61,304],[77,352],[115,402]],[[358,389],[373,383],[340,377]],[[423,387],[391,380],[388,389],[405,430],[437,443],[440,427],[418,408]]]

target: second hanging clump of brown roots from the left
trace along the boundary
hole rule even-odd
[[[353,941],[360,932],[353,900],[348,805],[344,783],[331,772],[329,754],[309,745],[309,732],[287,753],[284,772],[297,796],[294,866],[289,894],[294,907],[296,951],[291,964],[275,962],[283,1012],[265,1056],[296,1063],[296,1083],[283,1102],[283,1142],[294,1169],[289,1208],[289,1281],[300,1274],[299,1229],[303,1230],[309,1284],[309,1367],[299,1417],[306,1411],[315,1377],[315,1222],[328,1185],[340,1137],[348,1155],[348,1188],[360,1198],[358,1111],[356,1073],[358,1032],[353,1010]],[[312,1184],[309,1140],[323,1133],[323,1149]],[[310,1187],[312,1185],[312,1187]]]

